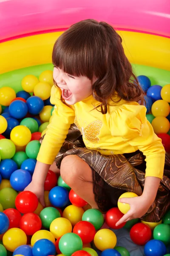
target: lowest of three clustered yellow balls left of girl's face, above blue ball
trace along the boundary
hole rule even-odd
[[[48,83],[39,82],[34,87],[34,95],[40,97],[42,100],[48,99],[51,94],[51,86]]]

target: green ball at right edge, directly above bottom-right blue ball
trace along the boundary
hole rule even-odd
[[[170,226],[159,224],[153,230],[153,238],[162,241],[165,245],[170,243]]]

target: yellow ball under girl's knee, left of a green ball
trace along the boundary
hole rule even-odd
[[[82,207],[77,207],[75,205],[69,205],[66,207],[62,213],[62,217],[68,219],[71,225],[74,227],[79,221],[82,221],[82,215],[85,211]]]

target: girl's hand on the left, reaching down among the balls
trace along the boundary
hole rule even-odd
[[[34,181],[31,181],[29,185],[24,189],[24,191],[31,191],[35,195],[37,195],[37,198],[39,199],[40,203],[43,207],[45,207],[45,201],[44,201],[44,186],[40,184],[35,184]]]

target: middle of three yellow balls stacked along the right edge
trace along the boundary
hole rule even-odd
[[[170,113],[170,105],[163,99],[159,99],[152,105],[153,116],[168,116]]]

